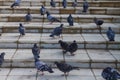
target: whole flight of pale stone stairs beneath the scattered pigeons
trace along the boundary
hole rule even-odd
[[[68,7],[63,9],[61,1],[56,0],[57,7],[50,7],[50,0],[24,0],[20,7],[11,9],[13,0],[0,0],[0,53],[5,52],[5,63],[0,68],[0,77],[3,80],[35,80],[36,69],[31,48],[37,43],[41,49],[40,59],[45,61],[55,70],[54,74],[46,73],[38,76],[40,80],[104,80],[100,76],[103,68],[112,66],[120,69],[120,1],[119,0],[88,0],[90,8],[87,14],[82,13],[83,1],[78,0],[78,7],[71,7],[73,0],[68,0]],[[53,28],[60,23],[50,25],[46,15],[41,16],[39,9],[45,5],[47,10],[64,23],[61,38],[49,37]],[[33,20],[24,22],[24,16],[30,11]],[[75,25],[69,26],[66,18],[72,13]],[[97,17],[104,20],[101,34],[93,22]],[[18,25],[23,23],[26,35],[19,36]],[[108,27],[116,32],[114,42],[109,42],[106,37]],[[63,55],[58,40],[71,43],[76,40],[78,51],[75,56],[69,53]],[[60,76],[54,61],[66,61],[80,67],[79,71],[72,71],[71,76]],[[25,73],[24,73],[25,72]],[[31,76],[32,75],[32,76]]]

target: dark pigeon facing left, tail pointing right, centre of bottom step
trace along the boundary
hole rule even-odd
[[[79,70],[78,67],[75,67],[75,66],[71,66],[69,64],[66,64],[66,63],[63,63],[63,62],[57,62],[55,61],[54,64],[57,66],[57,68],[64,72],[65,75],[68,76],[69,72],[72,71],[72,70]]]

